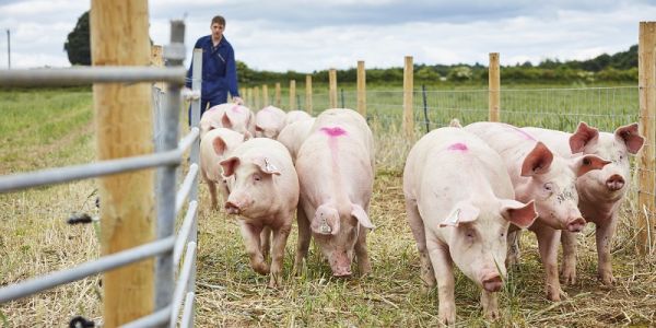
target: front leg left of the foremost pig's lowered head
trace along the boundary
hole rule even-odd
[[[429,255],[437,280],[438,317],[443,324],[453,325],[456,323],[453,260],[446,245],[436,241],[426,241],[426,244],[427,249],[431,249]]]

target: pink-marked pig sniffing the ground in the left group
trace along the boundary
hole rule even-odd
[[[298,245],[294,268],[300,272],[314,236],[333,277],[351,273],[353,254],[360,273],[371,269],[366,250],[367,214],[374,183],[374,138],[364,118],[348,108],[323,112],[296,156],[301,183]]]

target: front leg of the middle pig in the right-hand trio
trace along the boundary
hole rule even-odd
[[[538,237],[538,248],[540,249],[540,259],[544,267],[547,298],[550,301],[560,301],[561,291],[558,280],[558,245],[560,242],[560,230],[554,230],[547,225],[535,224],[530,227]]]

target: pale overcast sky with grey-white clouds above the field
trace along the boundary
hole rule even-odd
[[[8,28],[12,68],[70,66],[63,43],[90,8],[83,0],[0,0],[0,69],[8,67]],[[502,65],[589,59],[637,44],[639,22],[656,20],[656,0],[150,0],[149,14],[155,44],[167,43],[171,20],[184,19],[190,48],[221,14],[237,60],[312,72],[358,60],[402,67],[403,56],[426,65],[487,65],[489,52],[500,52]]]

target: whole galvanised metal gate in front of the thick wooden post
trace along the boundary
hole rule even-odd
[[[197,126],[200,120],[200,101],[194,101],[191,106],[194,128],[178,141],[179,108],[181,104],[180,87],[186,80],[186,70],[181,67],[184,60],[184,28],[185,25],[183,22],[172,22],[171,45],[164,50],[164,57],[168,59],[168,67],[166,68],[92,67],[0,71],[0,86],[168,82],[167,92],[156,92],[153,98],[155,114],[153,141],[155,143],[155,154],[48,168],[0,177],[0,192],[8,192],[35,186],[159,167],[156,178],[157,239],[104,256],[97,260],[81,263],[72,269],[61,270],[2,288],[0,289],[0,303],[11,302],[57,285],[124,267],[150,257],[156,257],[155,311],[148,316],[128,323],[125,327],[173,327],[177,325],[180,309],[183,309],[181,327],[194,325],[199,173],[199,129]],[[195,54],[194,57],[194,75],[198,77],[202,65],[202,56]],[[194,81],[192,89],[200,91],[200,79],[194,79]],[[162,101],[162,97],[164,97],[164,101]],[[176,191],[176,167],[183,163],[183,155],[189,148],[191,148],[189,172],[181,187]],[[175,220],[187,199],[189,199],[187,212],[179,232],[176,234],[174,229]],[[177,269],[183,259],[183,251],[185,251],[184,262],[177,278],[177,284],[175,284],[175,274],[178,272]]]

